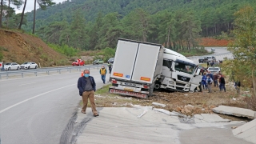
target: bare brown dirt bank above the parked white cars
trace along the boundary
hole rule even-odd
[[[5,62],[33,61],[41,66],[63,66],[68,62],[66,56],[51,49],[40,38],[11,30],[0,30],[0,49]]]

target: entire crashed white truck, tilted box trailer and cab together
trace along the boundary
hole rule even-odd
[[[162,45],[118,38],[110,74],[110,93],[146,98],[154,89],[194,91],[200,69]]]

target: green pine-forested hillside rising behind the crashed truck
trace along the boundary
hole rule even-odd
[[[114,47],[118,37],[198,46],[199,36],[233,29],[234,12],[255,0],[70,0],[37,10],[36,34],[47,42],[85,50]],[[27,13],[31,31],[33,13]]]

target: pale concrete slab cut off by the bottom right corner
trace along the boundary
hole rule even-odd
[[[242,138],[247,142],[256,143],[256,119],[237,127],[232,132],[238,138]]]

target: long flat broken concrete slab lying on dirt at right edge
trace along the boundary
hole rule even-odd
[[[256,114],[254,110],[243,109],[232,106],[218,106],[213,109],[215,113],[229,114],[237,117],[255,118]]]

